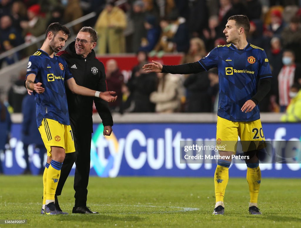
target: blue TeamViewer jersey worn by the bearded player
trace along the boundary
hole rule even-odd
[[[29,57],[27,75],[35,74],[35,83],[41,82],[45,92],[33,92],[36,100],[36,120],[38,127],[43,118],[70,125],[67,96],[64,81],[72,78],[67,62],[60,56],[51,58],[46,52],[38,49]]]

